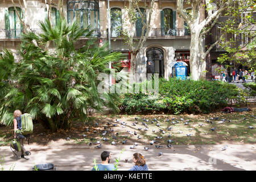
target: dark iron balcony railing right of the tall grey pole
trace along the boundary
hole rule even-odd
[[[129,34],[129,32],[132,32],[132,30],[125,30]],[[106,30],[108,35],[108,28]],[[145,31],[146,32],[146,31]],[[134,37],[140,37],[142,34],[142,31],[135,30]],[[112,38],[116,38],[119,35],[121,35],[119,32],[112,30],[110,31],[110,36]],[[189,30],[186,28],[176,28],[176,29],[170,29],[166,30],[166,28],[151,28],[150,32],[148,32],[148,38],[164,38],[164,37],[174,37],[174,36],[190,36]]]

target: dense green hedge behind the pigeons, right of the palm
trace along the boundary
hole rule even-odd
[[[159,97],[148,94],[125,94],[119,101],[121,113],[210,113],[227,106],[231,100],[241,102],[241,90],[222,81],[159,79]]]

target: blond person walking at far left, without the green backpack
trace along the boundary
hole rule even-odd
[[[22,155],[20,156],[21,158],[24,158],[24,159],[27,159],[24,157],[24,154],[26,155],[31,155],[31,152],[30,151],[26,151],[26,149],[24,148],[24,140],[25,140],[25,137],[27,138],[27,136],[23,136],[22,134],[18,133],[18,130],[20,129],[19,126],[20,126],[20,115],[22,115],[22,112],[20,110],[15,110],[14,111],[14,114],[13,114],[13,124],[14,124],[14,138],[18,139],[19,140],[19,143],[20,143],[20,147],[21,147],[21,150],[22,150]]]

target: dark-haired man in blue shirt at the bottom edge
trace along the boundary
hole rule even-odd
[[[96,164],[99,171],[113,171],[115,169],[114,164],[110,163],[110,152],[104,151],[101,153],[101,164]],[[96,171],[95,167],[92,168],[92,171]]]

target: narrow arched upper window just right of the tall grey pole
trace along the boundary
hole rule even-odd
[[[119,8],[110,9],[111,16],[111,36],[117,37],[120,35],[122,28],[122,11]]]

